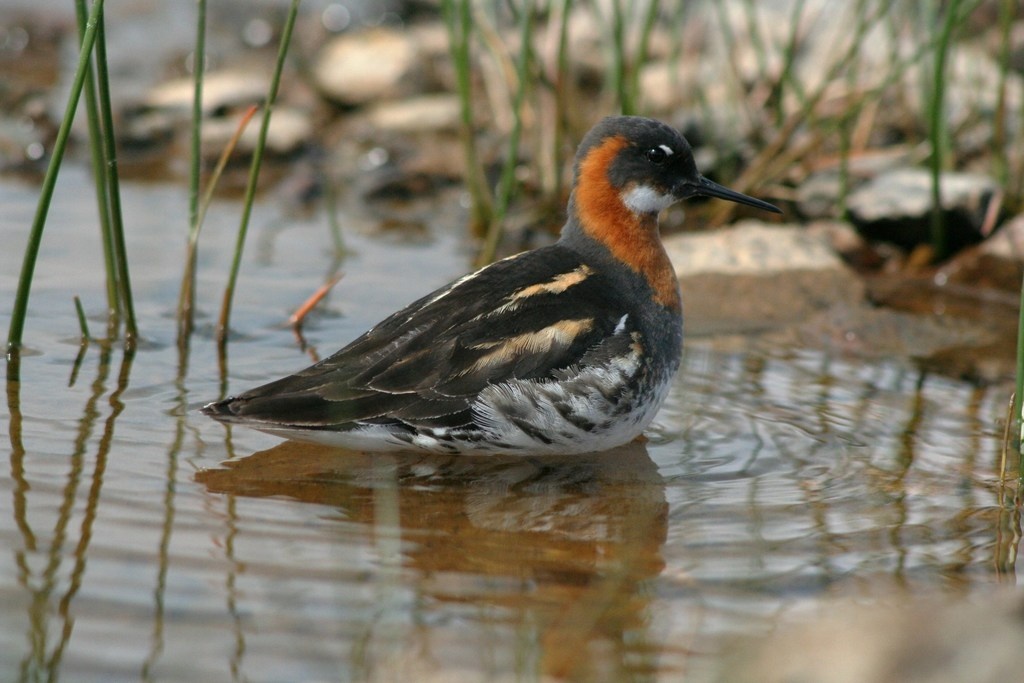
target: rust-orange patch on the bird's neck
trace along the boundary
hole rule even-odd
[[[581,161],[570,211],[585,234],[647,281],[655,302],[680,310],[679,282],[662,245],[657,215],[630,211],[621,197],[625,188],[608,179],[609,166],[628,143],[621,135],[606,138]]]

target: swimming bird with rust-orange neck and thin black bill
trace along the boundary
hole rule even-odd
[[[486,265],[294,375],[202,412],[364,452],[577,455],[628,443],[679,369],[679,281],[658,214],[692,197],[781,213],[702,176],[660,121],[581,140],[556,242]]]

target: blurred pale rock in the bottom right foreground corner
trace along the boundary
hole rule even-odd
[[[830,606],[725,659],[721,683],[1006,683],[1024,671],[1024,601]]]

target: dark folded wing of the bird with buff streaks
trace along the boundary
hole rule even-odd
[[[555,378],[613,353],[628,335],[612,290],[558,245],[511,257],[415,301],[321,362],[208,413],[310,428],[467,424],[488,384]]]

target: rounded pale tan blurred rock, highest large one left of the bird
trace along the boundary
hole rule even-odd
[[[313,63],[312,78],[332,101],[357,106],[415,93],[420,66],[410,34],[375,29],[342,34],[328,43]]]

